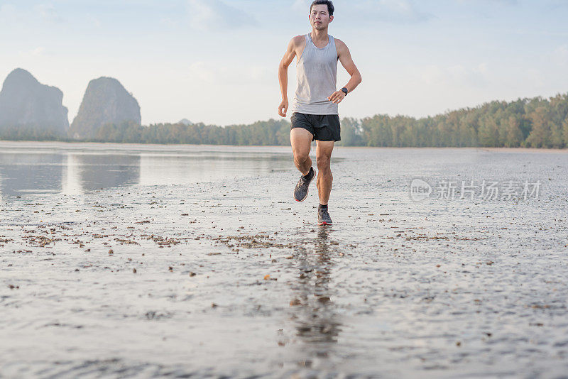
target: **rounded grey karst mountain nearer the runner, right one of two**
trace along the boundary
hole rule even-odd
[[[104,138],[97,136],[99,128],[107,123],[141,123],[138,101],[111,77],[93,79],[87,86],[79,112],[70,128],[76,139]]]

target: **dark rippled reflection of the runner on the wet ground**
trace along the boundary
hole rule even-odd
[[[333,257],[339,254],[330,234],[332,230],[320,227],[315,240],[306,241],[293,253],[299,273],[297,280],[290,284],[293,294],[290,320],[295,335],[305,346],[310,346],[308,351],[301,352],[305,366],[311,365],[310,357],[329,356],[342,326],[337,305],[332,300],[334,291],[329,287]]]

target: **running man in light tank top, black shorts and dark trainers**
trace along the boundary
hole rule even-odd
[[[332,192],[332,170],[330,167],[335,141],[340,141],[338,106],[347,94],[361,83],[361,74],[351,59],[349,49],[341,40],[327,33],[333,21],[334,6],[329,0],[315,0],[310,6],[312,32],[297,35],[290,40],[288,49],[278,67],[278,80],[282,102],[278,114],[285,117],[288,111],[288,66],[297,57],[297,89],[294,97],[294,113],[290,119],[290,142],[294,164],[302,173],[294,189],[294,198],[302,202],[307,189],[315,177],[310,148],[316,141],[316,163],[318,169],[317,192],[320,207],[317,209],[317,223],[331,225],[327,202]],[[337,91],[337,60],[351,79]]]

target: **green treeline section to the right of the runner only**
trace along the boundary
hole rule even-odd
[[[491,101],[433,117],[378,115],[362,119],[350,145],[565,148],[568,94],[550,99]]]

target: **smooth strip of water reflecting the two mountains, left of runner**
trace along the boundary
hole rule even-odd
[[[0,144],[1,145],[1,144]],[[20,147],[21,146],[21,147]],[[0,195],[4,199],[49,193],[82,194],[129,185],[189,185],[288,170],[286,151],[190,146],[112,149],[91,145],[1,145]]]

